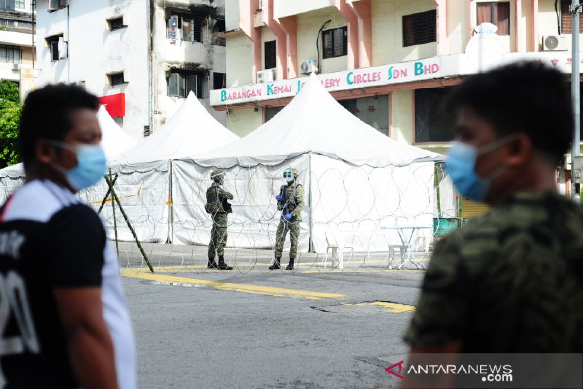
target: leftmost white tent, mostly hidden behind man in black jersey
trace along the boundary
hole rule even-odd
[[[108,158],[138,143],[115,123],[104,106],[97,111],[97,120],[101,128],[101,146]],[[0,170],[0,201],[5,201],[15,188],[22,185],[24,178],[22,163]]]

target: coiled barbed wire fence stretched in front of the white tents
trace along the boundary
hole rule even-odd
[[[233,166],[224,185],[234,195],[225,258],[235,271],[267,272],[273,262],[281,218],[275,197],[289,166],[298,169],[305,191],[296,271],[423,268],[436,228],[444,219],[458,219],[456,192],[441,164],[370,167],[300,156],[275,166]],[[204,204],[212,169],[181,160],[112,168],[115,191],[156,271],[209,270],[213,222]],[[3,202],[24,176],[4,175],[0,182]],[[102,180],[79,197],[97,210],[107,189]],[[147,271],[120,212],[114,223],[111,199],[101,218],[110,239],[115,224],[122,267]],[[283,267],[290,237],[285,239]]]

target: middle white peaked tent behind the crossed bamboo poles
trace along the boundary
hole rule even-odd
[[[172,237],[172,160],[237,139],[191,92],[159,130],[111,159],[111,171],[118,174],[115,190],[140,240],[166,242]],[[97,207],[106,192],[107,184],[103,181],[85,191],[83,197]],[[102,216],[113,237],[111,206],[103,209]],[[119,212],[116,216],[119,239],[132,240]]]

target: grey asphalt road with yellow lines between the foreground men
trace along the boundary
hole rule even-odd
[[[156,268],[155,276],[131,261],[123,281],[139,387],[398,385],[384,369],[408,351],[402,335],[422,271],[340,272],[306,261],[294,272],[269,272],[268,255],[258,257],[221,272],[192,255],[188,268]]]

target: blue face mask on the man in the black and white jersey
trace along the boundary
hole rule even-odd
[[[107,158],[100,145],[72,146],[63,142],[51,142],[57,147],[68,149],[77,155],[77,166],[65,170],[55,168],[65,174],[66,180],[76,191],[89,188],[99,182],[107,170]]]

